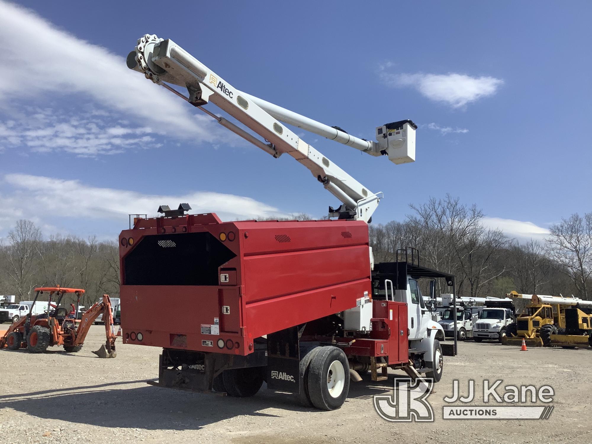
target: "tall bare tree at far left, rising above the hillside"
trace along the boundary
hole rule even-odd
[[[8,233],[8,246],[3,249],[8,265],[7,273],[14,282],[15,294],[22,300],[35,284],[31,278],[35,271],[36,251],[41,242],[41,231],[30,220],[19,220]]]

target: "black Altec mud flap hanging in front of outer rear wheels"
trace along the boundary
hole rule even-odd
[[[267,374],[265,381],[271,390],[300,392],[300,347],[298,327],[267,335]]]

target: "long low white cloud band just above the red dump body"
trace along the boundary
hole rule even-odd
[[[37,224],[47,223],[56,214],[59,220],[126,221],[129,213],[156,215],[159,204],[176,207],[181,202],[191,205],[191,213],[217,213],[222,220],[256,217],[285,217],[278,208],[252,198],[208,191],[179,195],[150,195],[115,188],[98,188],[77,180],[54,179],[26,174],[8,174],[4,184],[12,191],[0,194],[0,232],[7,231],[16,220],[27,218]],[[24,204],[26,202],[26,204]],[[39,215],[46,215],[40,218]]]

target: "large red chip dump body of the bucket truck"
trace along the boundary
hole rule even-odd
[[[124,341],[142,345],[247,355],[256,337],[371,294],[363,221],[139,220],[120,260]]]

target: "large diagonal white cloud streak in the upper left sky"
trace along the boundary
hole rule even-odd
[[[159,133],[213,142],[229,133],[178,97],[126,66],[124,57],[56,28],[30,9],[0,0],[2,67],[0,106],[43,95],[82,94],[86,101],[131,115]],[[132,40],[130,50],[135,43]],[[101,111],[103,112],[103,111]]]

